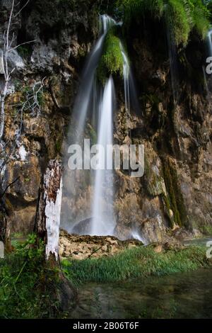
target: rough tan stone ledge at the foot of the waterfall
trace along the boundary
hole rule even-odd
[[[59,237],[59,255],[61,258],[86,259],[100,258],[102,256],[112,256],[139,247],[142,242],[136,239],[121,241],[112,236],[79,236],[69,235],[68,232],[61,230]]]

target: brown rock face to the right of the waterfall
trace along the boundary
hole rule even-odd
[[[120,92],[122,108],[117,114],[115,138],[119,142],[131,138],[132,143],[145,146],[145,174],[136,180],[122,171],[118,174],[117,232],[126,235],[137,230],[146,242],[161,242],[169,235],[199,237],[201,232],[211,232],[212,226],[211,94],[206,96],[205,87],[189,81],[189,70],[194,68],[177,64],[180,97],[174,103],[170,64],[165,49],[161,49],[162,35],[158,32],[159,45],[153,43],[148,28],[139,31],[135,26],[131,29],[129,57],[138,83],[140,116],[132,111],[130,119],[124,118]],[[198,47],[204,54],[200,41]],[[195,52],[189,56],[197,59]],[[204,59],[195,60],[200,73],[201,61]]]

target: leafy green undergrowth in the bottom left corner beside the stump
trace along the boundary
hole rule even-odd
[[[58,272],[45,262],[45,246],[35,235],[0,259],[0,318],[45,318],[58,313],[54,290]],[[14,245],[14,243],[13,243]],[[53,295],[53,296],[52,296]]]

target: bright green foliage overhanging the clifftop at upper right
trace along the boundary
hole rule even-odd
[[[149,13],[155,19],[164,18],[177,45],[187,45],[192,30],[205,38],[211,17],[201,0],[117,0],[116,6],[126,24]]]

